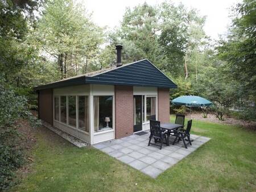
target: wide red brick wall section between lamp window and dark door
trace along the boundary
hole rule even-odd
[[[133,134],[133,86],[115,86],[115,139]]]

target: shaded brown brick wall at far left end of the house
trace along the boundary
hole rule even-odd
[[[38,117],[51,125],[53,124],[52,89],[39,91]]]

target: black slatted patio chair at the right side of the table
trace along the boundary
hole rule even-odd
[[[174,130],[174,132],[173,132],[174,135],[172,135],[172,136],[175,136],[175,140],[172,144],[174,145],[176,142],[179,143],[179,141],[182,140],[183,144],[184,144],[184,147],[186,149],[188,148],[187,144],[192,145],[191,140],[190,140],[191,126],[192,126],[192,120],[189,120],[186,130],[184,130],[182,128],[180,128],[179,130]],[[185,142],[186,139],[188,140],[188,143]]]

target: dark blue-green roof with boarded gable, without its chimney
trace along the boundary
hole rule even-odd
[[[135,61],[120,67],[98,70],[80,76],[66,78],[61,81],[35,87],[35,90],[52,89],[57,87],[104,84],[104,85],[131,85],[176,88],[177,86],[154,64],[147,59]]]

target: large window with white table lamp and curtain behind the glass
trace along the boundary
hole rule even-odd
[[[94,96],[94,131],[103,131],[112,128],[113,96]]]

